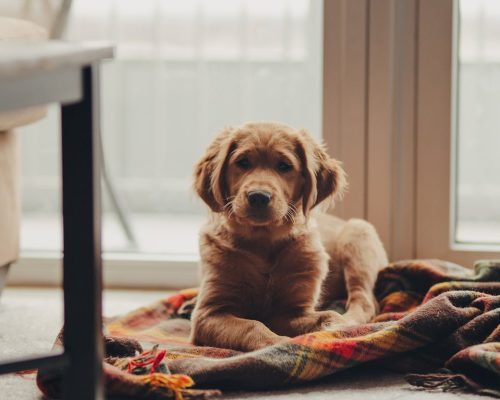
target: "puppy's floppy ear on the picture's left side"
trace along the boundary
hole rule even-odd
[[[231,132],[231,128],[220,132],[194,168],[194,189],[214,212],[221,212],[226,203],[224,176],[234,147],[230,140]]]

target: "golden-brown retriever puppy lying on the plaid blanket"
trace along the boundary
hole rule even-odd
[[[196,165],[194,186],[211,209],[194,344],[251,351],[374,316],[384,247],[366,221],[313,215],[342,192],[345,173],[305,131],[227,128]],[[345,314],[322,310],[346,297]]]

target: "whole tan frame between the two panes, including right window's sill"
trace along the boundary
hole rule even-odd
[[[391,260],[500,258],[452,234],[455,5],[324,2],[323,135],[350,184],[333,212],[372,222]]]

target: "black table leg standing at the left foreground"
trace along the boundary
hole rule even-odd
[[[82,70],[83,98],[62,120],[66,400],[102,399],[99,70]]]

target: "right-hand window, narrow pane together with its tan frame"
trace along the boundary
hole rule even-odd
[[[499,257],[497,1],[419,2],[418,257]]]

